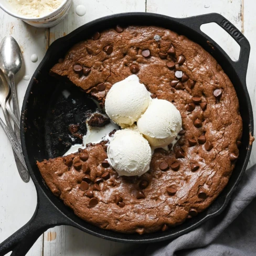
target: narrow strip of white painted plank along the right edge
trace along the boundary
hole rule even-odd
[[[250,1],[250,0],[244,0],[243,3],[243,30],[244,30],[244,36],[247,37],[247,39],[250,42],[251,45],[251,54],[249,59],[249,65],[248,65],[248,71],[247,71],[247,88],[250,94],[251,103],[252,103],[252,110],[254,115],[254,120],[256,118],[256,95],[255,95],[255,89],[256,89],[256,30],[255,30],[255,8],[256,8],[256,2]],[[255,130],[255,128],[254,128]],[[255,132],[254,132],[255,134]],[[248,164],[248,168],[256,163],[256,143],[254,142],[252,146],[252,154],[250,157],[250,161]]]

